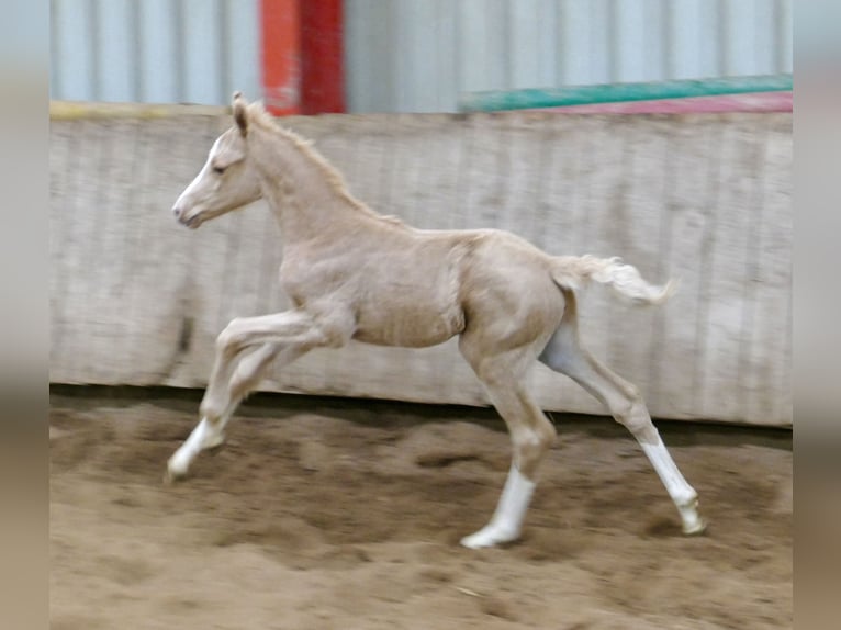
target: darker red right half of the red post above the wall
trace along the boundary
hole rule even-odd
[[[301,0],[302,109],[345,111],[343,0]]]

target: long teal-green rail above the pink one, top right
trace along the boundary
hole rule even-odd
[[[749,92],[782,92],[790,91],[792,89],[792,75],[767,75],[649,83],[574,86],[551,90],[487,91],[463,94],[459,99],[459,111],[498,112],[504,110],[616,103],[621,101],[654,101],[660,99],[687,99]]]

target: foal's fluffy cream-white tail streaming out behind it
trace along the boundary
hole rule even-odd
[[[556,256],[552,257],[551,273],[552,280],[563,289],[581,290],[595,280],[637,304],[662,304],[676,289],[673,280],[663,286],[649,284],[636,267],[616,257]]]

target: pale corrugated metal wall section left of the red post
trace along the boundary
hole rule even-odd
[[[258,0],[51,0],[51,95],[223,104],[259,94]]]

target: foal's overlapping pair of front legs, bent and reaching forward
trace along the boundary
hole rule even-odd
[[[325,323],[303,311],[289,311],[228,324],[216,340],[215,363],[200,406],[202,419],[169,459],[166,480],[186,476],[202,450],[224,442],[225,425],[276,358],[281,364],[289,364],[314,347],[336,345],[337,338],[350,337],[349,333],[336,333],[328,323],[329,319]]]

